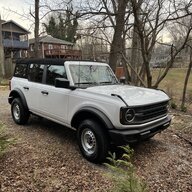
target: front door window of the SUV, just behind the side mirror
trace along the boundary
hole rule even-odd
[[[67,79],[65,67],[63,65],[62,66],[61,65],[48,65],[46,84],[54,85],[55,78],[59,78],[59,77]]]

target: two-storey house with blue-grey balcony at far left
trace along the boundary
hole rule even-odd
[[[0,76],[10,77],[14,60],[27,57],[29,33],[15,21],[4,21],[0,16]]]

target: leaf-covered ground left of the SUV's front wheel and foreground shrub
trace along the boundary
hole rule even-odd
[[[104,191],[109,187],[103,168],[81,157],[73,131],[35,117],[26,126],[14,124],[7,94],[0,90],[0,121],[16,144],[0,161],[0,191]]]

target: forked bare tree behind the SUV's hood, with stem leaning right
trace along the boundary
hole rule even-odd
[[[158,35],[162,30],[165,30],[166,25],[171,22],[178,22],[180,19],[191,15],[191,12],[189,11],[189,7],[185,4],[176,6],[175,1],[158,0],[152,2],[149,0],[131,0],[131,4],[135,18],[135,25],[140,39],[140,49],[143,59],[143,67],[141,67],[139,75],[142,73],[146,74],[147,86],[157,88],[159,83],[167,75],[169,68],[172,67],[176,56],[185,47],[191,27],[188,28],[183,43],[181,43],[179,47],[176,48],[174,45],[171,46],[171,57],[167,62],[167,67],[154,85],[152,85],[150,61],[154,47],[157,43]],[[138,13],[139,7],[140,11]]]

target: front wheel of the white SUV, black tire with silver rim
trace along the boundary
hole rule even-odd
[[[88,161],[101,163],[105,160],[109,143],[104,130],[97,122],[84,120],[77,130],[77,139],[81,153]]]

